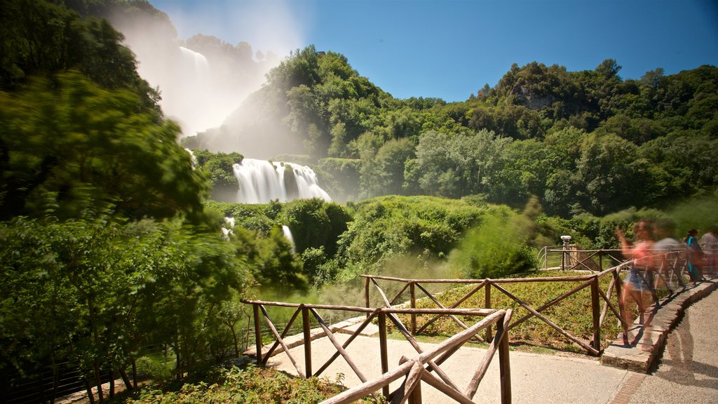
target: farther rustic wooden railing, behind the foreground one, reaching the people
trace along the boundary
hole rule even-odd
[[[650,291],[653,295],[654,301],[658,304],[658,294],[656,293],[655,288],[653,288],[655,277],[660,278],[663,280],[664,285],[670,285],[672,283],[672,280],[674,278],[677,278],[676,283],[679,283],[679,285],[684,286],[683,281],[681,280],[682,272],[683,272],[683,266],[685,262],[685,252],[671,252],[667,254],[656,254],[655,257],[656,260],[656,270],[651,272],[645,272],[643,273],[643,277],[646,279],[646,283],[648,285],[651,285]],[[658,264],[660,262],[660,264]],[[462,303],[465,303],[466,300],[471,298],[473,295],[475,295],[480,290],[485,290],[485,298],[484,298],[484,304],[483,308],[492,308],[493,302],[492,302],[492,293],[493,290],[497,290],[499,293],[502,293],[506,297],[510,298],[510,300],[513,300],[514,302],[518,303],[518,306],[521,306],[521,308],[526,309],[528,313],[521,317],[516,318],[513,320],[512,323],[508,325],[508,329],[513,329],[514,327],[518,326],[519,324],[523,323],[524,321],[528,320],[529,318],[536,317],[539,320],[543,321],[544,323],[548,324],[556,330],[559,334],[564,336],[565,339],[571,341],[573,344],[578,345],[581,347],[585,352],[588,354],[598,356],[601,353],[601,328],[603,323],[605,322],[607,318],[607,314],[610,311],[617,321],[620,322],[621,327],[623,329],[624,333],[628,332],[628,327],[630,326],[625,321],[625,307],[623,305],[623,302],[618,299],[617,304],[612,303],[611,297],[615,291],[617,295],[620,295],[621,286],[623,284],[623,280],[621,279],[621,272],[623,270],[628,269],[628,266],[630,265],[630,262],[625,261],[620,265],[617,265],[615,267],[611,267],[607,270],[602,270],[601,272],[591,273],[587,275],[575,275],[575,276],[559,276],[559,277],[528,277],[528,278],[510,278],[510,279],[423,279],[423,280],[414,280],[414,279],[404,279],[399,277],[385,277],[385,276],[374,276],[374,275],[362,275],[365,279],[365,305],[368,307],[370,306],[370,285],[375,285],[376,289],[378,290],[379,295],[381,295],[381,299],[385,302],[386,306],[394,306],[397,303],[399,303],[400,300],[403,300],[402,296],[404,293],[406,293],[407,290],[409,290],[409,301],[406,302],[409,308],[416,308],[416,301],[417,301],[417,292],[420,291],[425,299],[431,300],[431,302],[436,305],[439,308],[458,308],[462,305]],[[655,272],[655,273],[654,273]],[[602,290],[600,287],[600,280],[602,277],[611,277],[610,282],[608,283],[607,290]],[[396,283],[403,283],[403,287],[393,295],[393,298],[389,299],[386,297],[386,293],[382,290],[380,285],[378,284],[378,280],[383,281],[390,281],[390,282],[396,282]],[[575,286],[571,290],[568,290],[565,293],[561,293],[560,295],[557,295],[553,298],[550,298],[546,301],[546,303],[541,304],[541,306],[533,307],[530,304],[526,303],[524,299],[521,297],[518,297],[511,293],[509,290],[507,290],[504,285],[508,283],[545,283],[545,282],[560,282],[560,283],[579,283],[579,285]],[[470,291],[465,293],[465,295],[462,295],[461,298],[457,299],[454,303],[444,305],[444,303],[441,303],[439,299],[437,299],[432,293],[427,290],[427,285],[432,284],[452,284],[452,285],[472,285],[474,286]],[[542,311],[546,311],[547,308],[550,308],[551,306],[556,305],[556,303],[561,302],[561,300],[564,300],[568,298],[569,296],[572,296],[574,294],[577,294],[580,290],[583,290],[584,288],[589,288],[590,290],[590,301],[587,307],[590,308],[591,316],[592,316],[592,339],[589,341],[584,341],[584,339],[579,338],[578,336],[572,335],[569,331],[565,329],[565,327],[561,327],[559,324],[557,324],[554,321],[551,321],[547,316],[545,316]],[[669,291],[673,293],[674,288],[669,288]],[[603,305],[601,307],[601,304]],[[421,334],[422,331],[426,330],[427,327],[431,326],[432,323],[439,320],[439,318],[442,317],[448,317],[454,323],[457,323],[458,326],[460,326],[463,329],[467,329],[467,326],[465,323],[462,323],[459,318],[456,316],[452,316],[450,314],[437,314],[433,318],[429,319],[428,321],[425,321],[420,327],[417,327],[416,323],[416,313],[410,314],[410,323],[409,323],[409,330],[412,335]],[[491,339],[491,329],[486,329],[485,338],[487,340]],[[477,338],[480,338],[480,336],[477,336]]]

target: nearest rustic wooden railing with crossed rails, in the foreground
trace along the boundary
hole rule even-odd
[[[494,354],[498,351],[499,356],[499,373],[500,373],[500,395],[501,403],[509,404],[511,402],[511,380],[510,380],[510,365],[509,365],[509,351],[508,351],[508,336],[507,336],[507,325],[511,318],[511,310],[497,310],[497,309],[486,309],[486,308],[363,308],[363,307],[352,307],[352,306],[325,306],[325,305],[313,305],[313,304],[296,304],[296,303],[280,303],[280,302],[268,302],[261,300],[242,300],[243,303],[251,304],[253,307],[254,316],[254,330],[255,330],[255,343],[256,343],[256,359],[259,364],[266,365],[267,360],[274,351],[281,346],[284,352],[289,357],[289,360],[297,369],[297,374],[302,378],[309,376],[322,375],[332,362],[339,356],[342,356],[347,364],[351,367],[353,372],[357,375],[359,380],[362,382],[361,385],[353,387],[345,392],[335,395],[334,397],[323,401],[323,404],[343,404],[352,403],[355,400],[364,398],[368,395],[374,395],[381,389],[384,397],[391,400],[391,403],[404,403],[409,400],[410,404],[421,403],[421,381],[426,382],[428,385],[436,388],[440,392],[452,398],[457,403],[473,403],[472,398],[474,397],[478,386],[488,370],[488,366],[494,357]],[[294,314],[287,323],[284,331],[279,333],[274,323],[269,318],[269,314],[266,311],[265,306],[281,306],[295,308]],[[328,309],[328,310],[339,310],[339,311],[351,311],[357,313],[365,313],[366,318],[363,323],[360,324],[358,329],[344,342],[340,344],[332,333],[330,326],[325,323],[322,316],[317,313],[317,310]],[[260,314],[261,312],[261,314]],[[299,313],[302,314],[302,334],[304,336],[304,369],[301,369],[297,360],[292,357],[289,352],[289,346],[285,343],[284,339],[289,333],[294,321],[299,317]],[[429,352],[423,352],[418,342],[406,329],[401,320],[396,316],[397,314],[435,314],[435,315],[448,315],[448,316],[482,316],[482,320],[467,326],[467,328],[449,339],[439,344],[436,348]],[[316,372],[312,372],[312,331],[310,327],[311,318],[313,316],[316,321],[320,324],[323,332],[327,338],[337,349],[330,359],[322,364],[320,369]],[[269,348],[266,354],[262,353],[262,339],[261,339],[261,316],[264,316],[267,326],[271,329],[274,335],[274,344]],[[386,319],[389,319],[396,328],[404,334],[404,337],[411,346],[414,346],[418,356],[413,359],[407,359],[406,357],[401,358],[401,363],[398,367],[389,369],[388,366],[388,352],[387,352],[387,332],[386,332]],[[351,342],[360,334],[366,326],[372,323],[374,320],[378,322],[379,328],[379,349],[381,357],[381,376],[376,377],[372,380],[368,380],[361,369],[357,367],[353,359],[347,352],[347,347]],[[461,391],[457,385],[447,376],[447,374],[439,367],[449,357],[457,352],[461,346],[467,341],[472,339],[476,334],[484,329],[491,328],[493,324],[496,324],[496,334],[490,343],[487,351],[478,367],[475,371],[472,380],[466,387],[465,391]],[[434,376],[434,374],[437,376]],[[389,391],[389,384],[395,380],[405,377],[404,382],[393,392]]]

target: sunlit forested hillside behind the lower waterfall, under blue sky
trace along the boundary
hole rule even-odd
[[[276,154],[310,155],[339,200],[481,195],[518,207],[533,195],[570,217],[714,193],[717,137],[714,66],[624,81],[616,60],[580,72],[534,62],[446,103],[392,98],[340,53],[309,46],[185,144],[246,153],[269,139]]]

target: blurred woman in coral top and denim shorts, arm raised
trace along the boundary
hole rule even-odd
[[[625,321],[629,325],[633,323],[635,314],[633,308],[628,307],[629,298],[632,298],[638,306],[638,313],[643,314],[646,303],[653,298],[650,285],[652,283],[652,272],[655,265],[653,244],[653,225],[651,221],[640,220],[635,224],[633,232],[638,238],[635,244],[630,244],[626,239],[623,230],[616,227],[616,237],[621,244],[621,252],[631,260],[623,288],[620,295],[620,303],[624,306]]]

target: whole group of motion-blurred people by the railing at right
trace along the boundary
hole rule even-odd
[[[674,231],[675,224],[668,219],[657,221],[644,219],[635,224],[633,228],[635,242],[631,243],[628,242],[623,230],[616,228],[616,237],[621,244],[621,251],[626,258],[631,260],[628,276],[625,278],[620,295],[626,310],[626,321],[629,324],[633,322],[633,310],[629,310],[626,306],[630,300],[635,301],[638,304],[639,313],[643,313],[646,305],[650,304],[648,302],[653,298],[652,290],[660,287],[662,282],[666,282],[666,275],[670,281],[670,274],[659,273],[658,275],[663,276],[656,276],[656,271],[668,267],[665,264],[666,260],[670,259],[669,253],[686,252],[685,257],[691,282],[704,280],[704,274],[716,275],[718,269],[716,230],[711,229],[698,239],[698,231],[691,229],[684,242],[671,237]],[[681,272],[680,269],[677,269],[679,276]]]

